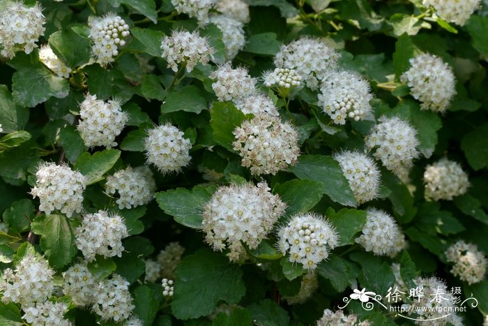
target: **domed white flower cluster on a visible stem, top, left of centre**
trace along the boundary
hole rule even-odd
[[[161,40],[162,57],[168,62],[168,67],[178,71],[178,64],[184,63],[186,71],[190,71],[199,62],[208,64],[215,50],[208,44],[208,38],[202,38],[198,31],[172,31],[171,36]]]

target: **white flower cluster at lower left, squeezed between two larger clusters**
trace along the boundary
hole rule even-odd
[[[93,303],[93,289],[98,285],[86,263],[77,263],[63,272],[63,294],[69,295],[77,306]]]

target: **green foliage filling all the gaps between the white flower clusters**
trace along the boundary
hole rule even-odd
[[[363,149],[364,135],[374,121],[330,126],[328,117],[317,114],[317,93],[305,88],[289,103],[300,133],[298,164],[263,179],[287,203],[287,216],[318,212],[339,232],[341,246],[317,269],[319,290],[303,305],[289,306],[280,300],[298,293],[306,271],[288,262],[272,241],[264,240],[250,251],[244,265],[231,264],[224,254],[204,244],[199,232],[201,208],[215,191],[215,181],[208,184],[206,174],[218,176],[218,184],[255,179],[241,167],[241,158],[231,145],[231,132],[246,117],[234,105],[215,98],[208,77],[215,66],[198,65],[174,82],[174,73],[161,58],[163,36],[174,29],[197,29],[197,21],[174,13],[169,0],[43,1],[47,22],[39,43],[49,43],[73,68],[69,80],[49,71],[37,50],[0,62],[0,124],[6,133],[0,139],[0,212],[8,226],[8,232],[0,232],[0,269],[13,266],[17,249],[26,241],[35,244],[59,273],[81,255],[73,235],[78,219],[40,214],[38,202],[29,195],[39,161],[66,161],[88,177],[85,212],[117,211],[103,193],[105,177],[126,165],[143,165],[146,129],[171,121],[192,142],[191,165],[179,174],[155,172],[156,200],[119,211],[130,233],[123,242],[123,256],[91,265],[93,272],[116,271],[130,281],[134,313],[144,325],[309,325],[322,316],[323,309],[342,303],[351,287],[386,294],[395,281],[390,269],[393,261],[400,263],[406,283],[418,275],[436,274],[449,286],[462,286],[464,295],[473,293],[478,309],[462,317],[467,325],[479,325],[488,314],[488,281],[463,284],[449,273],[444,251],[457,239],[466,239],[488,253],[487,6],[465,27],[455,27],[424,17],[421,1],[323,1],[330,2],[324,8],[317,8],[321,1],[312,0],[246,2],[250,4],[247,43],[234,59],[235,66],[247,66],[251,75],[259,77],[273,68],[273,55],[280,45],[300,35],[328,37],[340,49],[340,65],[369,80],[376,95],[372,101],[375,117],[397,115],[418,130],[422,157],[415,161],[411,183],[403,184],[382,170],[380,198],[356,207],[351,188],[331,155],[341,149]],[[130,25],[131,36],[114,64],[104,68],[90,61],[86,21],[90,15],[107,12],[121,15]],[[215,47],[215,61],[223,62],[222,33],[213,24],[200,31]],[[457,96],[443,116],[420,110],[409,89],[399,83],[409,59],[419,52],[436,54],[454,68]],[[87,92],[124,103],[130,119],[117,138],[116,149],[84,146],[74,124]],[[284,114],[284,102],[275,100],[284,119],[290,119]],[[427,164],[446,154],[468,170],[471,188],[452,202],[427,202],[423,172]],[[390,212],[404,230],[409,246],[397,258],[379,258],[354,244],[367,206]],[[167,305],[160,284],[144,282],[144,258],[174,241],[186,251],[176,269],[174,298]],[[238,306],[230,315],[220,313],[209,319],[221,303]],[[351,309],[379,325],[405,322],[382,311]],[[96,316],[85,311],[74,309],[70,316],[79,325],[96,323]],[[0,324],[21,325],[17,307],[0,303]]]

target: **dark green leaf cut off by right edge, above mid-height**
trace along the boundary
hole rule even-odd
[[[461,142],[461,148],[474,170],[488,166],[488,124],[483,124],[473,131],[466,133]]]

